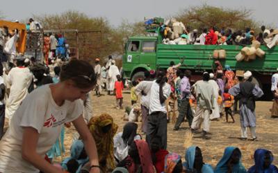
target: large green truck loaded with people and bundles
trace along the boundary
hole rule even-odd
[[[156,29],[155,33],[159,30]],[[184,58],[180,69],[192,71],[192,82],[202,78],[204,71],[211,72],[215,69],[213,51],[224,49],[226,58],[219,60],[224,67],[228,64],[234,71],[252,71],[254,82],[259,84],[265,95],[264,100],[271,100],[272,93],[271,76],[278,68],[278,46],[268,49],[266,46],[260,48],[265,51],[263,58],[256,57],[250,62],[237,62],[236,55],[243,46],[238,45],[177,45],[162,44],[162,35],[146,37],[130,37],[126,42],[124,55],[122,56],[124,78],[136,80],[142,78],[144,71],[151,69],[167,69],[171,61],[176,64]]]

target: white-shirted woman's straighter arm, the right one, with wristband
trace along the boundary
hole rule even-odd
[[[85,151],[87,152],[90,158],[90,166],[99,165],[99,158],[97,156],[97,146],[95,144],[94,138],[92,138],[92,134],[90,133],[88,127],[83,120],[83,116],[79,116],[76,120],[72,122],[74,127],[79,132],[81,138],[83,139],[83,143],[85,146]],[[90,172],[100,172],[99,167],[92,167]]]

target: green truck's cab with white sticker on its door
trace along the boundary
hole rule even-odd
[[[138,80],[144,71],[156,69],[157,37],[130,37],[122,56],[124,78]]]

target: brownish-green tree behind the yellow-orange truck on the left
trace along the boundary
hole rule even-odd
[[[83,12],[69,10],[56,15],[35,15],[34,19],[43,24],[44,30],[79,30],[79,57],[82,59],[93,61],[96,57],[106,57],[117,51],[117,48],[110,44],[113,28],[103,17],[88,17]],[[75,45],[75,33],[65,34],[70,46]]]

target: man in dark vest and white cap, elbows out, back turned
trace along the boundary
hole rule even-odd
[[[246,71],[243,75],[244,82],[236,84],[229,93],[231,95],[239,95],[240,107],[240,126],[241,140],[247,140],[247,127],[250,128],[252,140],[256,140],[256,115],[255,115],[255,100],[263,96],[263,91],[256,84],[253,84],[252,73]]]

